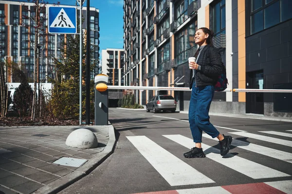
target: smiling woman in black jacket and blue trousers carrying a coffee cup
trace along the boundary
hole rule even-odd
[[[231,136],[221,135],[210,123],[209,109],[214,97],[214,85],[223,71],[219,50],[213,47],[214,32],[208,28],[200,28],[195,33],[195,43],[199,45],[195,57],[196,62],[189,62],[189,87],[192,89],[189,105],[189,124],[196,146],[184,153],[185,158],[206,157],[202,148],[202,131],[212,138],[217,137],[221,146],[221,156],[229,152]]]

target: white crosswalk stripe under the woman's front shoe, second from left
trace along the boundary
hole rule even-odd
[[[182,145],[185,147],[193,147],[194,142],[192,139],[184,137],[182,135],[164,135],[164,137]],[[256,162],[249,161],[247,159],[235,156],[231,153],[228,153],[223,158],[220,155],[220,150],[214,147],[201,144],[204,153],[207,158],[210,158],[216,162],[219,162],[233,170],[236,170],[239,173],[242,173],[251,178],[275,178],[275,177],[288,177],[290,175],[282,173],[280,171],[274,170],[267,166],[258,164]]]

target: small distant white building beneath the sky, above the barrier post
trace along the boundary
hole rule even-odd
[[[101,73],[109,76],[109,85],[124,85],[124,49],[102,49]]]

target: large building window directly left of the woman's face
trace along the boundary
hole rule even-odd
[[[191,24],[183,31],[181,31],[178,36],[176,36],[175,47],[176,47],[176,57],[178,65],[187,62],[187,51],[195,46],[195,30],[197,26]]]

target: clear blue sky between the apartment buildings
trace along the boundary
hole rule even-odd
[[[76,4],[76,0],[48,0],[49,3],[57,1],[66,5]],[[83,6],[86,4],[85,1]],[[123,49],[123,4],[123,0],[90,0],[90,6],[99,9],[100,58],[102,49]]]

